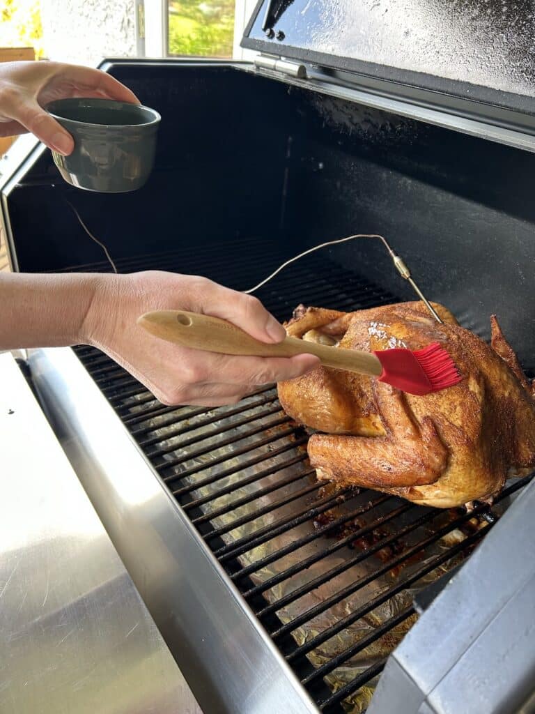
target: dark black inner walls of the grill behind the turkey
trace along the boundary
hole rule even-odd
[[[162,116],[151,180],[133,193],[78,191],[61,181],[48,151],[31,157],[1,188],[20,271],[101,260],[65,198],[118,260],[175,246],[204,250],[210,241],[227,251],[245,237],[256,256],[276,256],[285,244],[289,257],[351,233],[381,233],[424,293],[486,338],[496,313],[521,362],[535,368],[526,268],[534,261],[535,154],[224,63],[121,61],[109,69]],[[338,246],[332,259],[357,263],[392,289],[377,241]],[[412,298],[407,283],[396,291]]]

